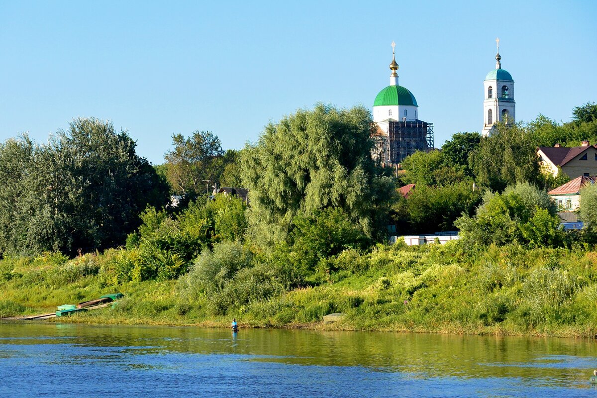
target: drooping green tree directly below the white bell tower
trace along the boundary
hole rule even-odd
[[[481,138],[469,162],[476,182],[494,191],[516,183],[540,183],[536,146],[520,125],[498,124],[489,137]]]

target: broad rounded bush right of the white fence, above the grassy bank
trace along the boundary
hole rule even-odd
[[[528,183],[508,187],[501,194],[485,193],[475,217],[463,215],[455,224],[461,240],[469,245],[522,242],[556,246],[562,240],[555,205],[546,192]]]

